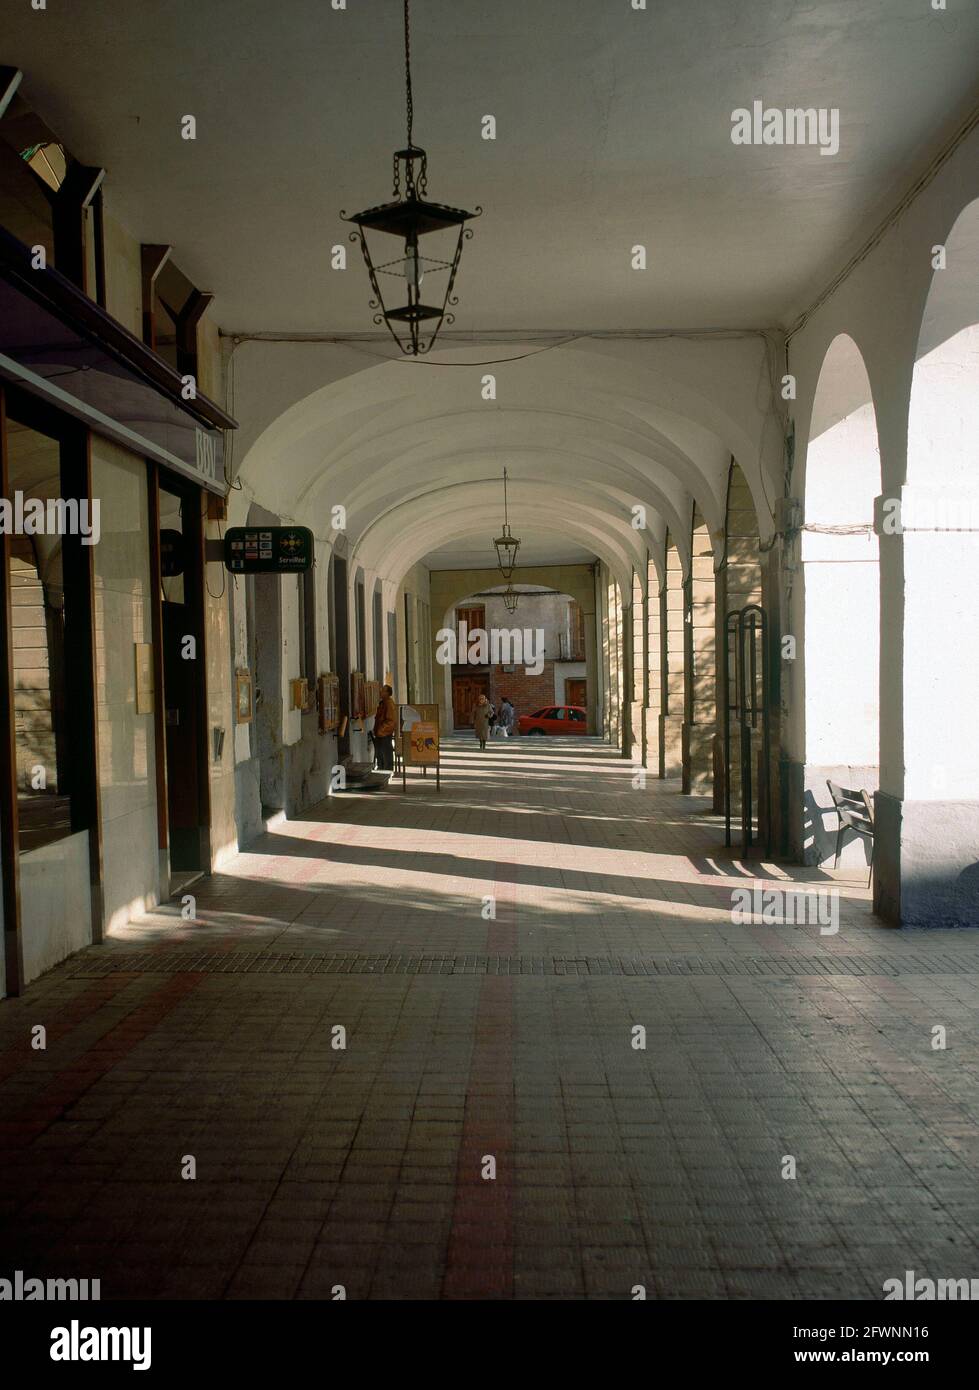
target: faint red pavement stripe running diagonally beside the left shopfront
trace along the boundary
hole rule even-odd
[[[96,1081],[142,1042],[203,976],[184,973],[159,986],[131,1013],[99,1038],[76,1062],[51,1077],[49,1084],[15,1119],[0,1123],[0,1150],[26,1148],[38,1134],[64,1115]]]

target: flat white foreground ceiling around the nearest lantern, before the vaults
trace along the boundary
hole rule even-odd
[[[330,270],[339,208],[389,196],[399,0],[25,0],[4,61],[227,331],[373,328]],[[790,320],[975,97],[979,6],[928,0],[413,0],[430,196],[483,204],[459,329]],[[839,107],[841,150],[736,147],[731,111]],[[179,138],[197,120],[196,142]],[[494,114],[495,142],[480,138]],[[630,247],[648,247],[633,271]],[[359,259],[359,257],[357,257]]]

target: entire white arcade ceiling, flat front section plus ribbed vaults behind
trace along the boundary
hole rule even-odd
[[[4,28],[25,96],[106,165],[128,231],[214,292],[222,331],[303,339],[235,346],[249,495],[325,538],[342,503],[359,563],[396,582],[426,556],[492,563],[506,467],[524,557],[599,555],[630,584],[668,527],[687,557],[694,502],[718,537],[731,456],[770,527],[782,424],[756,331],[811,303],[972,108],[979,6],[412,0],[430,196],[484,207],[426,364],[305,341],[377,332],[359,254],[338,271],[331,247],[341,208],[391,196],[400,0],[22,4]],[[755,100],[837,110],[839,153],[734,145]],[[594,336],[659,329],[687,336]],[[708,357],[711,329],[744,336]]]

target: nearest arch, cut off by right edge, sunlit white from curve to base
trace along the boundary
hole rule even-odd
[[[877,906],[912,924],[979,920],[979,200],[955,221],[921,322],[908,471],[884,499],[882,545],[903,560],[903,777],[879,798]],[[890,513],[890,514],[887,514]],[[900,623],[894,607],[893,623]],[[894,848],[900,845],[900,873]]]

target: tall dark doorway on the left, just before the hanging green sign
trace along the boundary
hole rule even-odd
[[[159,484],[159,651],[165,845],[170,894],[210,870],[204,688],[203,498],[193,484]],[[161,840],[164,837],[161,835]]]

